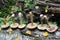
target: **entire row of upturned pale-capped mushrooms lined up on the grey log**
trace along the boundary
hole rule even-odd
[[[10,28],[19,28],[19,29],[23,29],[23,28],[27,28],[27,29],[35,29],[35,28],[38,28],[39,30],[47,30],[48,32],[55,32],[57,29],[58,29],[58,26],[57,25],[54,25],[54,24],[51,24],[49,21],[48,21],[48,17],[46,15],[43,15],[43,14],[40,14],[40,21],[41,21],[41,24],[37,24],[33,21],[33,13],[32,12],[29,12],[29,17],[30,17],[30,23],[29,24],[24,24],[22,23],[22,18],[23,18],[23,14],[21,12],[18,13],[18,18],[20,19],[20,22],[17,23],[15,22],[14,20],[14,16],[15,14],[12,14],[11,16],[8,16],[7,18],[2,18],[2,21],[3,21],[3,25],[1,25],[1,28],[7,28],[7,27],[10,27]],[[12,24],[9,24],[7,23],[7,20],[9,19],[12,19],[13,20],[13,23]],[[45,19],[46,21],[46,24],[43,23],[43,20]]]

